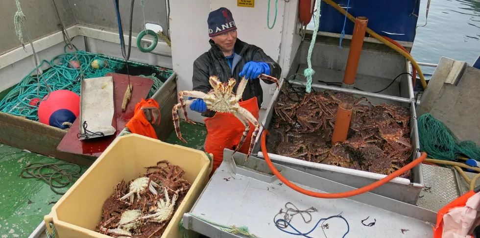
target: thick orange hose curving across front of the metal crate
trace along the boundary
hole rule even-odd
[[[360,189],[351,190],[351,191],[347,191],[347,192],[339,192],[339,193],[314,192],[314,191],[302,189],[302,188],[294,185],[293,183],[288,181],[284,176],[282,176],[278,172],[278,170],[273,166],[272,161],[270,160],[270,157],[268,156],[268,152],[266,151],[266,144],[265,144],[266,136],[269,135],[269,134],[270,133],[268,132],[268,130],[264,129],[264,131],[262,132],[262,138],[261,138],[261,143],[262,144],[261,145],[262,145],[262,153],[264,154],[264,157],[265,157],[265,162],[268,165],[268,167],[270,168],[270,170],[273,172],[273,174],[275,174],[275,176],[277,176],[277,178],[280,179],[280,181],[282,181],[284,184],[286,184],[291,189],[293,189],[295,191],[298,191],[300,193],[303,193],[305,195],[309,195],[309,196],[312,196],[312,197],[318,197],[318,198],[352,197],[352,196],[356,196],[356,195],[359,195],[359,194],[364,193],[364,192],[374,190],[374,189],[384,185],[388,181],[394,179],[395,177],[398,177],[398,176],[402,175],[403,173],[407,172],[408,170],[412,169],[413,167],[417,166],[418,164],[422,163],[425,160],[425,158],[427,158],[427,153],[422,152],[422,155],[418,159],[410,162],[408,165],[406,165],[406,166],[400,168],[399,170],[391,173],[390,175],[384,177],[383,179],[381,179],[381,180],[379,180],[379,181],[377,181],[373,184],[369,184],[365,187],[362,187]]]

